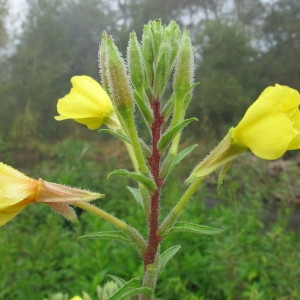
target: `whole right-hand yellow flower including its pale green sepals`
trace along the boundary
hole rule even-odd
[[[250,149],[263,159],[277,159],[300,148],[300,94],[287,86],[267,87],[248,108],[240,123],[193,170],[186,182],[224,167]],[[225,170],[225,171],[224,171]]]

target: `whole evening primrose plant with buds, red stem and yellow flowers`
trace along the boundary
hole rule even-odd
[[[0,225],[29,203],[46,203],[70,220],[75,219],[70,205],[89,211],[113,224],[116,230],[88,233],[84,237],[128,243],[136,249],[143,263],[141,278],[125,280],[112,276],[116,288],[105,299],[155,299],[160,273],[180,250],[180,245],[164,249],[164,239],[169,234],[182,232],[222,232],[222,229],[180,221],[186,205],[205,178],[220,169],[222,181],[230,163],[246,151],[272,160],[288,150],[300,148],[300,95],[279,84],[267,87],[238,125],[230,128],[217,147],[195,164],[185,180],[185,192],[174,207],[164,208],[163,211],[168,212],[163,215],[162,206],[170,203],[164,201],[167,191],[162,194],[168,175],[196,148],[191,145],[179,150],[183,129],[197,121],[186,118],[196,85],[189,32],[182,32],[174,21],[168,26],[159,20],[149,22],[144,27],[141,42],[134,32],[130,34],[126,59],[113,38],[104,33],[99,66],[101,85],[88,76],[74,76],[70,93],[58,100],[55,119],[73,119],[90,130],[97,130],[95,134],[104,131],[124,143],[132,168],[112,170],[108,177],[125,176],[136,182],[128,189],[143,211],[147,233],[142,234],[144,226],[135,228],[105,208],[89,203],[102,194],[31,179],[4,164],[0,165]],[[148,131],[139,131],[136,127],[137,113]],[[101,190],[101,182],[99,187]],[[118,270],[112,272],[118,275]]]

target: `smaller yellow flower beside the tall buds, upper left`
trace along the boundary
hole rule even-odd
[[[74,119],[89,129],[97,129],[102,123],[113,128],[120,127],[112,102],[101,85],[89,76],[74,76],[70,93],[59,99],[58,121]]]

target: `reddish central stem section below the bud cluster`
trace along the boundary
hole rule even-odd
[[[147,250],[144,253],[144,267],[145,269],[149,264],[153,264],[155,261],[155,256],[157,252],[157,247],[159,242],[161,241],[160,236],[158,235],[159,228],[159,202],[160,202],[160,193],[161,193],[161,185],[163,183],[160,178],[160,160],[161,155],[158,150],[158,141],[161,136],[161,126],[164,122],[163,117],[160,114],[160,102],[159,99],[154,99],[151,103],[151,108],[153,111],[153,123],[151,126],[152,133],[152,154],[149,158],[150,170],[153,176],[153,179],[156,183],[157,189],[151,195],[151,210],[150,215],[148,217],[148,226],[149,226],[149,234],[148,234],[148,246]]]

